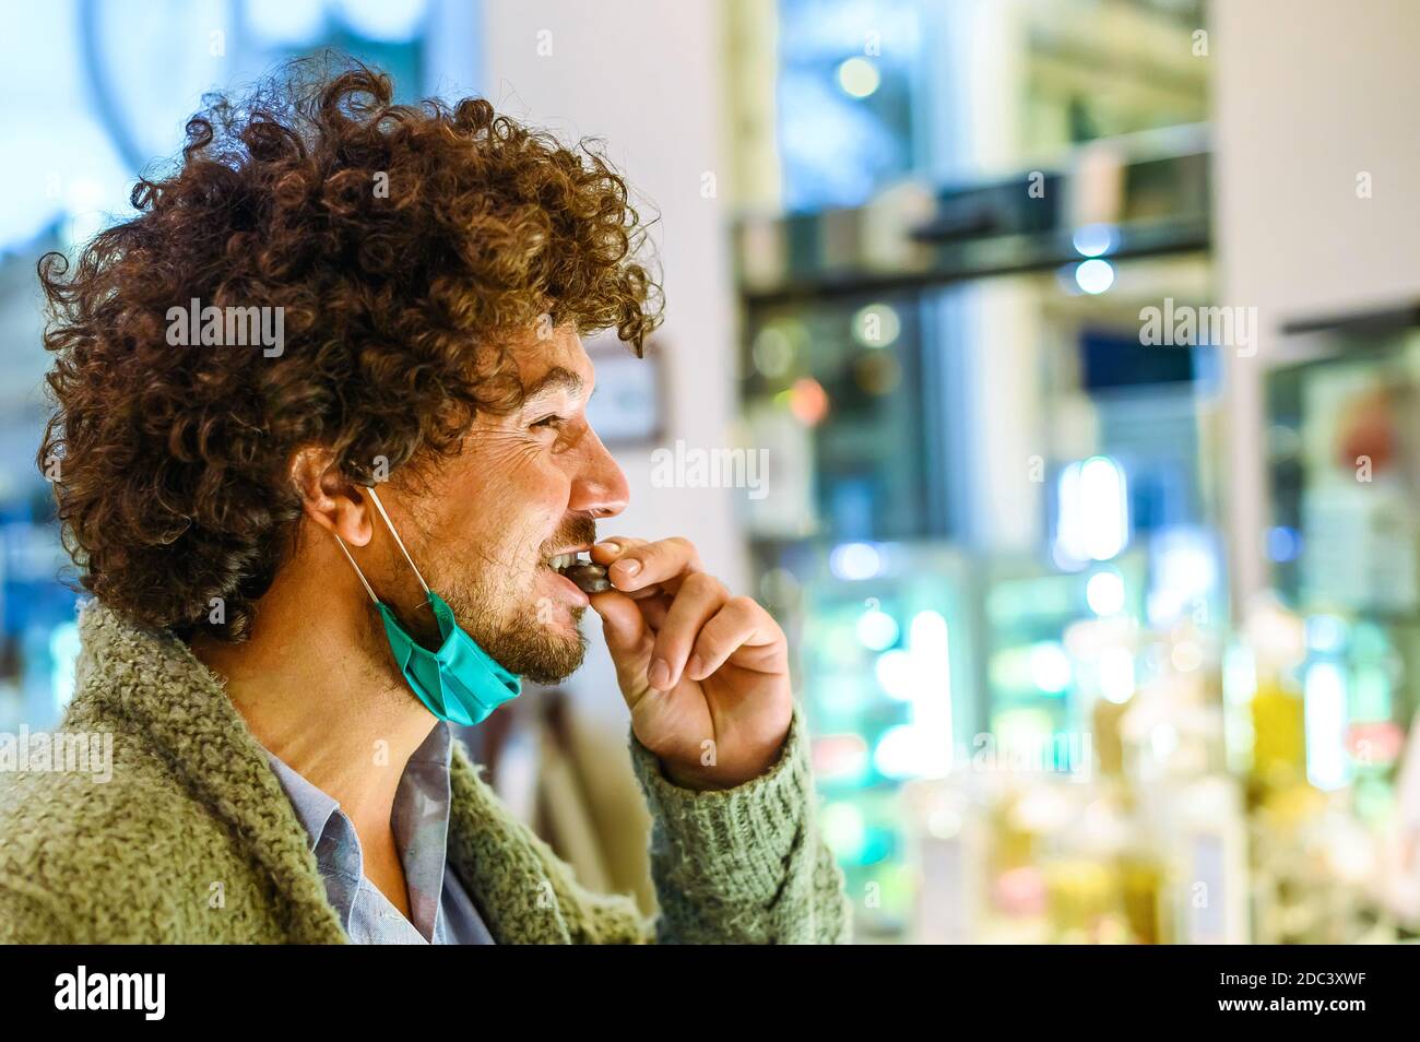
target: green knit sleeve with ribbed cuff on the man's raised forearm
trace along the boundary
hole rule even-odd
[[[802,710],[778,761],[733,789],[670,782],[630,735],[632,765],[653,825],[652,880],[662,944],[841,944],[851,907],[843,874],[816,828]]]

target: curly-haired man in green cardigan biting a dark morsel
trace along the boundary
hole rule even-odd
[[[64,730],[114,765],[0,782],[0,940],[846,940],[784,633],[684,539],[596,541],[628,487],[579,332],[659,321],[622,179],[365,68],[187,131],[139,216],[41,263],[40,460],[94,595]],[[572,673],[588,606],[652,921],[449,738]]]

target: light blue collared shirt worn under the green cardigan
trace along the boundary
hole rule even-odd
[[[410,918],[365,877],[359,836],[341,805],[270,750],[267,757],[305,828],[325,894],[354,944],[494,943],[447,863],[453,737],[444,721],[435,724],[409,758],[389,819],[405,869]]]

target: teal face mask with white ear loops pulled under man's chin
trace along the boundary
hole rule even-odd
[[[405,627],[399,625],[389,605],[375,596],[375,591],[371,589],[369,582],[365,579],[365,572],[355,564],[355,558],[351,556],[345,541],[337,535],[335,541],[341,544],[345,558],[355,568],[361,585],[365,586],[365,592],[369,593],[369,599],[375,602],[376,610],[385,620],[385,636],[389,637],[389,649],[395,653],[395,664],[399,666],[399,671],[403,673],[406,683],[419,696],[419,701],[427,706],[429,711],[436,717],[450,720],[456,724],[481,724],[493,710],[518,696],[518,691],[523,690],[523,681],[494,662],[454,622],[453,609],[449,608],[442,596],[429,589],[425,576],[419,575],[419,569],[415,568],[413,558],[405,549],[405,542],[399,538],[399,532],[395,531],[395,525],[389,522],[389,514],[385,512],[385,504],[379,501],[379,495],[376,495],[373,488],[368,488],[366,491],[369,493],[369,498],[375,501],[379,515],[385,518],[385,527],[389,528],[389,534],[395,537],[399,552],[405,555],[405,561],[409,561],[409,566],[419,576],[419,585],[425,588],[425,596],[429,598],[429,606],[435,612],[435,619],[439,623],[439,636],[442,637],[439,650],[430,652],[409,636]]]

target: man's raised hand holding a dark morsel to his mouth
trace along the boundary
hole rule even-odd
[[[666,777],[733,788],[777,759],[794,711],[784,630],[730,596],[686,539],[592,548],[612,589],[592,593],[636,738]]]

